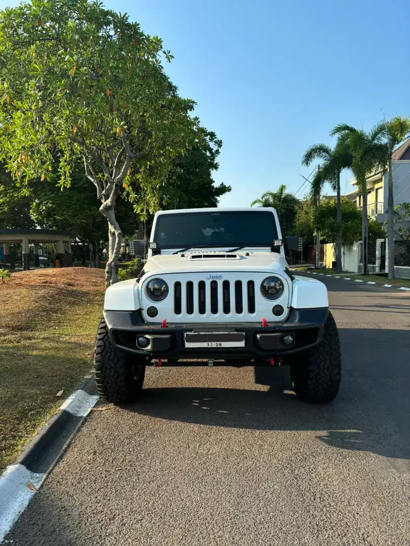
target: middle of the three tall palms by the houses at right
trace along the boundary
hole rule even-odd
[[[352,152],[352,171],[362,193],[362,244],[363,244],[363,274],[367,274],[367,177],[375,169],[383,170],[385,165],[385,149],[378,141],[380,134],[377,127],[370,133],[362,129],[356,129],[347,123],[340,123],[334,127],[330,135],[343,135],[348,139]]]

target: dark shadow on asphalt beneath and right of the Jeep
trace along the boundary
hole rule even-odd
[[[144,389],[128,411],[207,426],[318,431],[328,446],[410,459],[408,330],[341,329],[343,378],[331,403],[307,404],[292,391],[288,367],[255,367],[256,385]],[[241,373],[241,370],[238,370]]]

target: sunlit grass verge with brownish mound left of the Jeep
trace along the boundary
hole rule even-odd
[[[103,297],[101,269],[22,271],[0,284],[0,471],[91,370]]]

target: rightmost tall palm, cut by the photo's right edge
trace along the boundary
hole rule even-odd
[[[373,136],[374,133],[374,136]],[[372,138],[385,149],[385,169],[389,171],[387,196],[387,243],[388,243],[388,274],[394,278],[394,194],[393,194],[393,151],[410,133],[410,119],[396,116],[391,120],[380,121],[371,131]]]

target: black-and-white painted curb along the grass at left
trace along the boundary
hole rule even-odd
[[[98,400],[90,375],[0,476],[0,543],[66,451]]]

